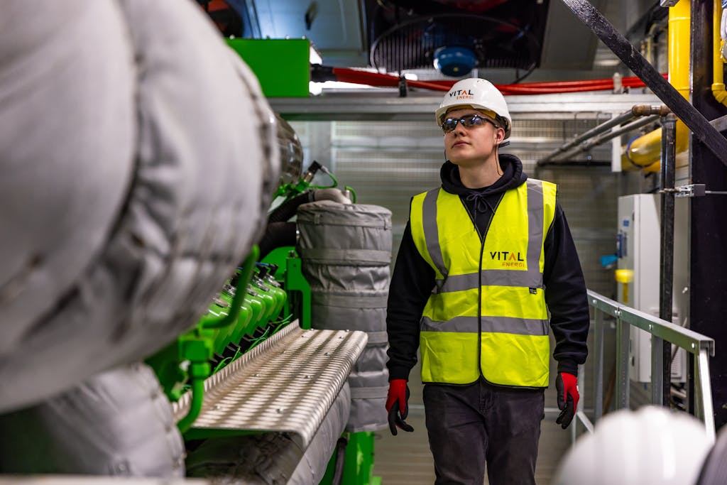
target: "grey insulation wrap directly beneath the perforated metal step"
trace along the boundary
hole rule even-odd
[[[306,449],[289,433],[210,438],[189,453],[188,476],[216,485],[318,484],[345,429],[350,402],[344,383]]]

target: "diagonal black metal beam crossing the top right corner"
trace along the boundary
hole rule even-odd
[[[727,140],[587,0],[563,0],[622,62],[648,86],[694,136],[727,165]]]

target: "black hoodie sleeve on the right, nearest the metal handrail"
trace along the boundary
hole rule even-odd
[[[578,364],[588,355],[590,313],[583,271],[560,204],[556,204],[555,219],[545,238],[543,282],[558,372],[577,375]]]

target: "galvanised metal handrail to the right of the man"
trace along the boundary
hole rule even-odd
[[[619,302],[588,290],[588,305],[594,310],[594,408],[593,422],[603,416],[603,316],[616,319],[616,409],[629,406],[629,339],[630,326],[635,326],[651,334],[651,404],[662,405],[663,402],[663,342],[671,342],[683,348],[694,358],[694,416],[704,422],[707,436],[712,443],[715,441],[715,417],[712,409],[712,385],[710,382],[709,357],[715,355],[715,341],[710,337],[672,324],[670,321],[651,316],[643,311],[622,305]],[[578,382],[583,389],[585,371],[579,367]],[[571,441],[577,436],[577,423],[593,432],[593,422],[584,411],[584,400],[578,403],[576,420],[571,426]]]

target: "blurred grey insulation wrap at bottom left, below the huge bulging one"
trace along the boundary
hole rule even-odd
[[[185,476],[185,446],[153,371],[103,372],[0,415],[0,473]]]

